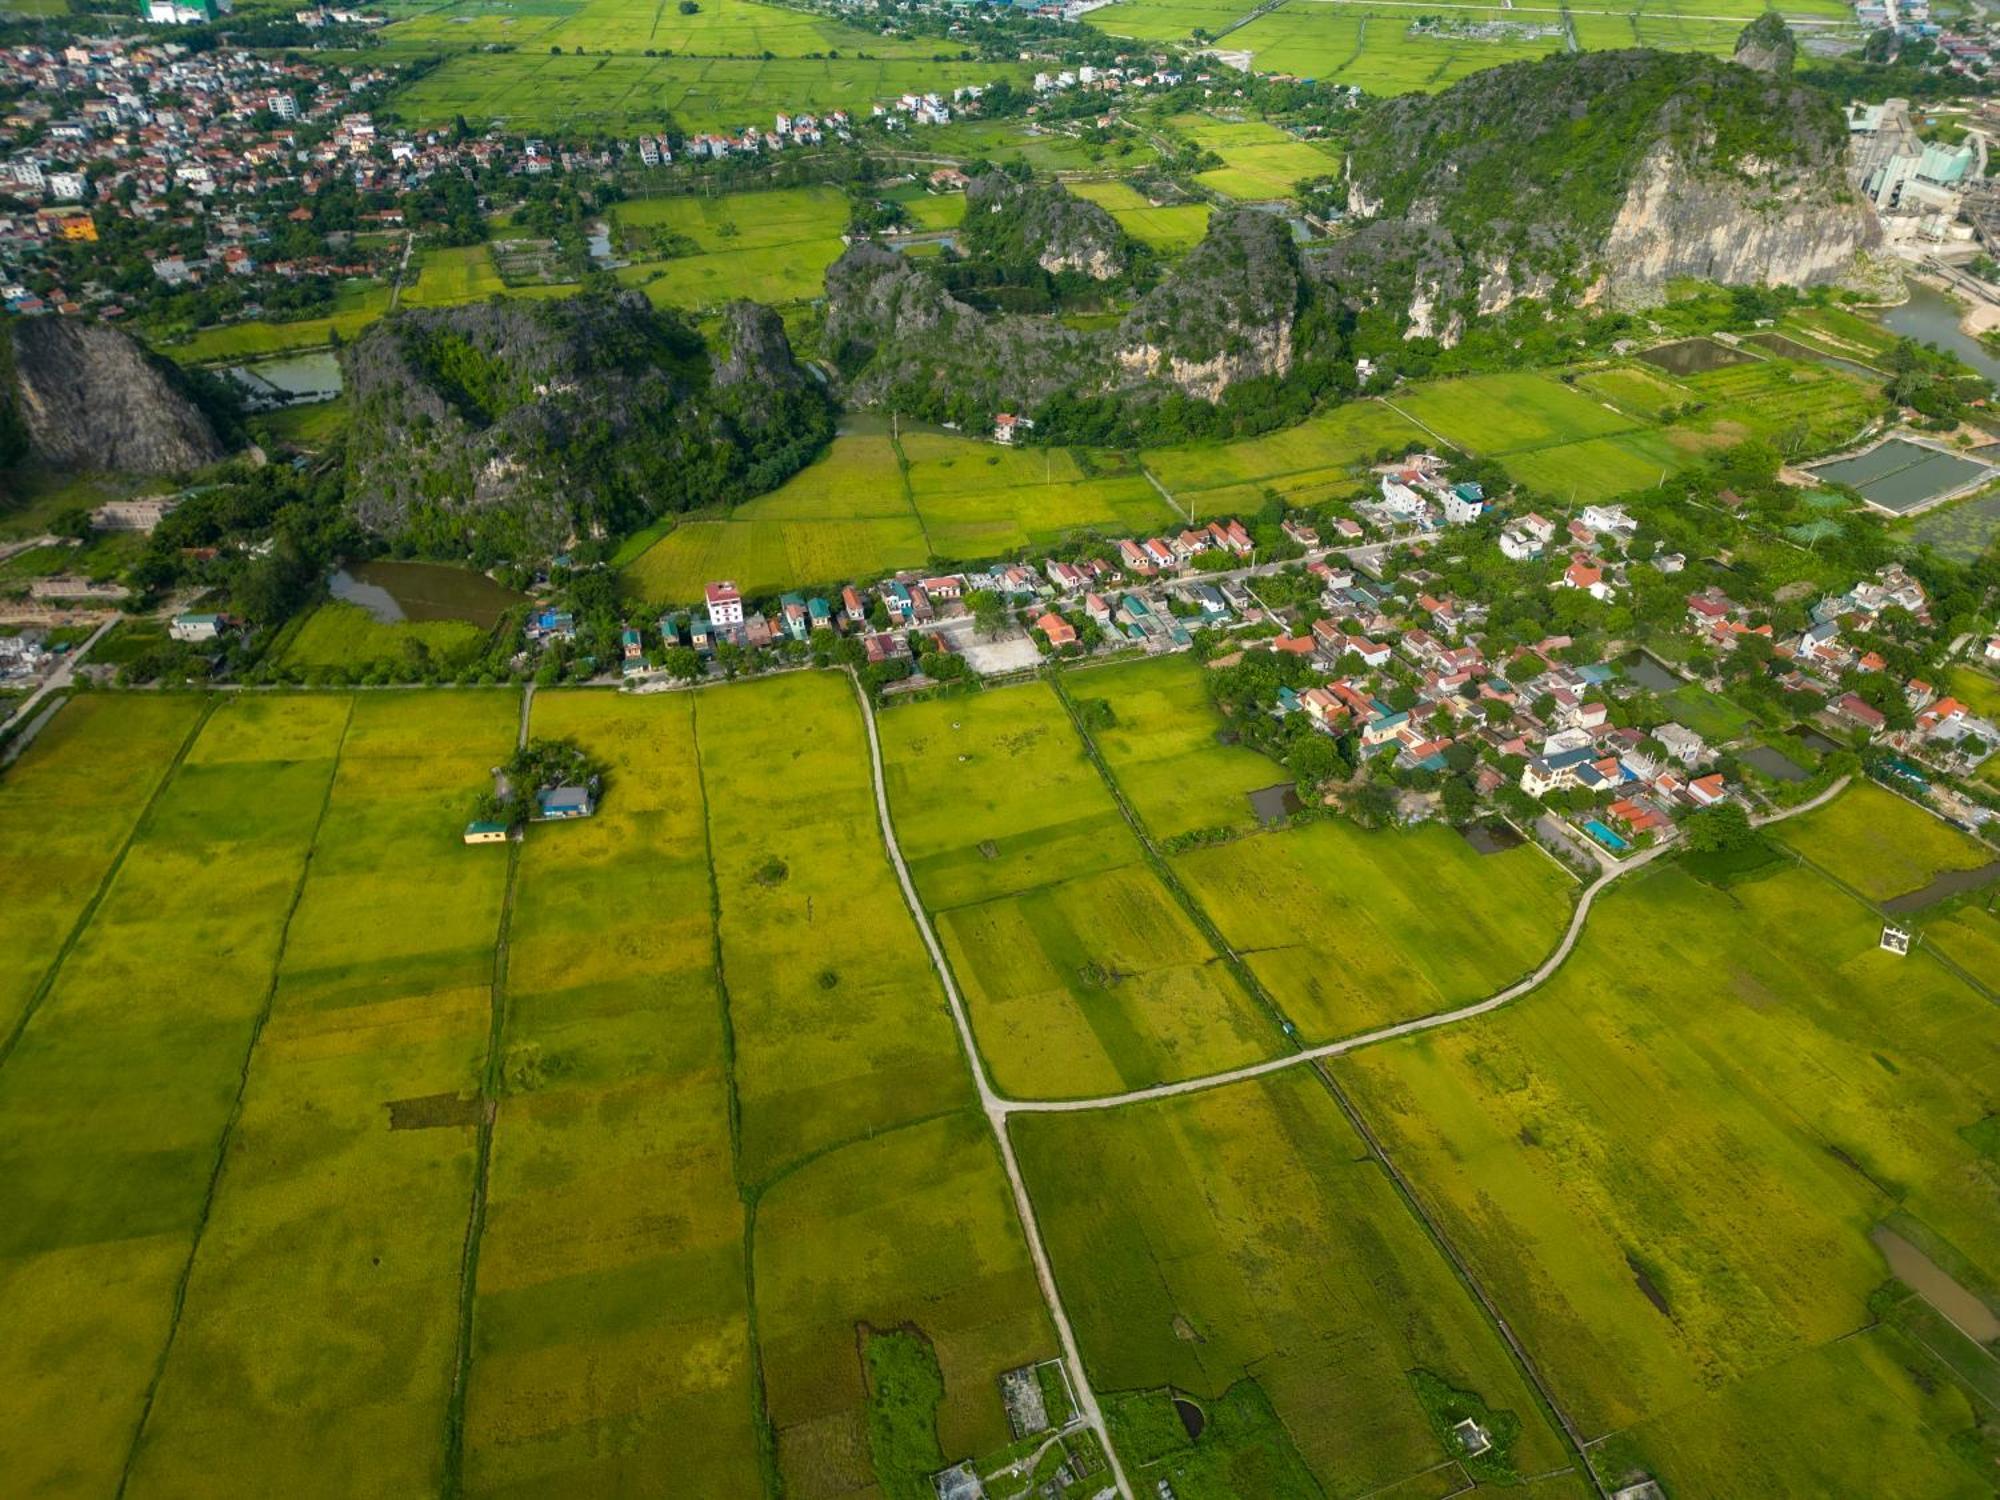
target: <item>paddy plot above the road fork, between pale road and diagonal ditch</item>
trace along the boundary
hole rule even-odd
[[[1108,1094],[1274,1052],[1046,684],[912,704],[882,728],[896,836],[998,1088]]]

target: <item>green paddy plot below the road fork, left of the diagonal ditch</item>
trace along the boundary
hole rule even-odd
[[[1448,1466],[1418,1372],[1510,1416],[1490,1422],[1512,1430],[1508,1470],[1564,1466],[1500,1336],[1308,1070],[1012,1130],[1136,1492],[1358,1496]],[[1276,1420],[1256,1448],[1224,1432],[1220,1452],[1180,1440],[1148,1460],[1136,1394],[1162,1386],[1218,1430],[1228,1408]],[[1464,1482],[1434,1478],[1408,1492]]]

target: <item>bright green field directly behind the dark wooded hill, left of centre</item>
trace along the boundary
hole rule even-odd
[[[706,308],[730,298],[796,302],[824,292],[848,224],[836,188],[730,192],[720,198],[638,198],[612,210],[634,264],[618,280],[660,306]],[[676,234],[698,250],[656,260],[656,236]]]

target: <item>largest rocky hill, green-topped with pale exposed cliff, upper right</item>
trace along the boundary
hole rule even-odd
[[[1406,300],[1410,336],[1446,342],[1528,296],[1838,276],[1880,226],[1848,190],[1838,112],[1778,76],[1788,34],[1770,32],[1746,32],[1770,72],[1586,52],[1376,106],[1350,158],[1350,208],[1372,222],[1316,272],[1356,306]]]

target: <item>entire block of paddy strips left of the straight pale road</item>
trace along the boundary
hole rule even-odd
[[[1008,1442],[1054,1336],[846,678],[544,692],[604,808],[466,848],[518,718],[86,696],[0,780],[94,802],[0,1050],[10,1488],[852,1494],[868,1328]]]

